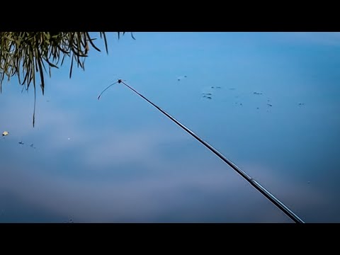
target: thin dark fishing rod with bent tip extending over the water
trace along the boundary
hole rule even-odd
[[[208,142],[205,142],[205,140],[203,140],[202,138],[198,137],[198,135],[196,135],[193,131],[191,131],[189,128],[186,128],[185,125],[183,125],[182,123],[180,123],[178,120],[176,120],[174,117],[172,117],[169,113],[166,113],[166,111],[162,110],[162,108],[160,108],[159,106],[157,106],[156,104],[152,103],[152,101],[149,101],[149,99],[147,99],[145,96],[143,96],[142,94],[140,94],[138,91],[136,91],[135,89],[133,89],[131,86],[129,86],[128,84],[126,84],[122,79],[118,79],[118,81],[116,81],[114,84],[120,84],[123,83],[125,86],[127,86],[129,89],[131,89],[133,92],[135,92],[135,94],[137,94],[138,96],[142,97],[143,99],[145,99],[148,103],[152,104],[152,106],[154,106],[155,108],[157,108],[160,112],[162,112],[164,115],[166,115],[166,117],[168,117],[170,120],[174,121],[174,123],[176,123],[177,125],[179,125],[181,128],[183,128],[183,130],[186,130],[186,132],[188,132],[190,135],[192,135],[196,140],[198,140],[198,142],[202,143],[205,147],[207,147],[208,149],[210,149],[210,151],[212,153],[214,153],[217,157],[219,157],[220,159],[222,159],[223,162],[225,162],[226,164],[228,164],[232,169],[234,169],[234,171],[236,171],[239,175],[241,175],[244,179],[246,179],[246,181],[248,181],[251,186],[253,186],[254,188],[256,188],[256,190],[258,190],[263,196],[265,196],[266,198],[268,198],[268,200],[270,200],[274,205],[276,205],[281,211],[283,211],[285,213],[285,215],[287,215],[288,217],[290,217],[291,220],[293,220],[296,223],[305,223],[303,220],[300,219],[300,217],[298,217],[297,215],[295,215],[295,213],[290,210],[286,205],[284,205],[280,200],[278,200],[278,198],[276,198],[275,196],[273,196],[272,193],[270,193],[269,191],[266,190],[266,188],[264,188],[258,181],[256,181],[255,179],[251,178],[251,176],[249,176],[248,174],[246,174],[246,172],[242,171],[241,169],[239,169],[239,167],[232,163],[229,159],[227,159],[225,156],[223,156],[223,154],[219,151],[217,151],[217,149],[215,149],[214,147],[212,147],[212,145],[210,145]],[[114,84],[111,84],[110,86],[113,86]],[[110,86],[108,86],[106,89],[108,89]],[[104,91],[106,91],[106,89],[104,89]],[[103,92],[104,92],[103,91]],[[103,92],[101,92],[101,94],[103,94]],[[100,98],[101,95],[98,96],[98,100]]]

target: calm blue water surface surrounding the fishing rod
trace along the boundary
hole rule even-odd
[[[292,222],[127,87],[98,101],[118,78],[305,222],[340,222],[339,33],[134,35],[53,70],[35,128],[33,87],[3,84],[0,222]]]

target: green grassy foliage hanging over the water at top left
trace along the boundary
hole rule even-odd
[[[118,39],[122,32],[118,33]],[[123,32],[123,35],[125,32]],[[99,32],[108,53],[106,33]],[[133,39],[135,39],[131,33]],[[18,77],[19,84],[28,90],[33,82],[35,91],[35,73],[39,73],[42,95],[45,91],[46,65],[51,77],[51,69],[59,68],[65,57],[71,57],[69,78],[72,77],[74,62],[77,67],[85,69],[84,62],[90,47],[101,51],[95,44],[96,38],[89,32],[0,32],[0,93],[2,83],[7,77]],[[61,63],[60,63],[61,60]],[[60,63],[60,64],[59,64]],[[58,66],[59,65],[59,66]],[[35,108],[33,110],[34,127]]]

